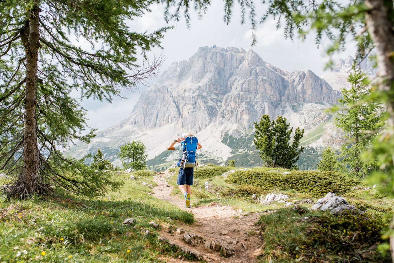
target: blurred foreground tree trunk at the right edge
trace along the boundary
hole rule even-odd
[[[377,65],[381,82],[379,89],[388,94],[385,106],[389,114],[387,133],[394,140],[394,7],[392,0],[365,0],[368,32],[376,45]],[[392,153],[393,163],[394,154]],[[394,220],[394,218],[393,218]],[[390,236],[394,263],[394,234]]]

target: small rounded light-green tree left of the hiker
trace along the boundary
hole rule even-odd
[[[118,156],[125,169],[133,168],[137,171],[146,169],[148,155],[146,154],[146,146],[141,140],[133,140],[122,145]]]

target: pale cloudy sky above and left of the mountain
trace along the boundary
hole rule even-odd
[[[256,31],[258,42],[252,47],[250,24],[247,22],[241,25],[240,12],[234,9],[232,21],[226,25],[223,22],[224,4],[222,1],[212,1],[212,6],[208,8],[208,12],[203,15],[202,19],[198,19],[197,13],[192,12],[190,30],[186,28],[184,19],[166,24],[161,5],[153,5],[151,9],[151,13],[130,21],[129,24],[132,31],[147,31],[148,33],[167,25],[175,26],[173,30],[169,30],[164,35],[163,49],[156,48],[149,54],[150,57],[153,57],[154,54],[158,55],[163,52],[166,58],[163,70],[167,69],[169,64],[174,61],[188,60],[199,47],[217,45],[224,48],[242,47],[245,50],[251,48],[264,61],[286,71],[307,71],[310,69],[318,76],[325,74],[323,69],[329,58],[325,55],[323,47],[316,48],[313,35],[309,35],[305,41],[301,41],[297,37],[294,42],[290,39],[285,40],[283,31],[275,30],[273,20],[258,26]],[[89,49],[89,45],[83,41],[76,44]],[[327,41],[325,45],[328,47],[329,42]],[[354,57],[354,54],[354,45],[349,44],[345,52],[335,57],[335,61],[340,57],[346,58],[348,55]],[[142,61],[139,64],[142,65]],[[152,83],[154,81],[150,82],[150,84]],[[140,86],[136,93],[126,94],[128,99],[114,99],[113,103],[84,99],[82,106],[87,109],[88,125],[100,131],[126,118],[138,101],[139,93],[145,88]],[[74,92],[73,95],[79,97],[78,92]]]

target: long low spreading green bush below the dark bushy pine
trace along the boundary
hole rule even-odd
[[[294,189],[314,197],[324,196],[328,192],[342,194],[360,184],[357,179],[331,171],[292,171],[289,174],[278,174],[263,170],[241,170],[229,175],[227,181],[238,185],[253,185],[262,190]]]

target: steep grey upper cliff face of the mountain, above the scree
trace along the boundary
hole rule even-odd
[[[187,62],[172,63],[124,122],[148,130],[175,123],[199,132],[218,120],[247,129],[286,103],[334,103],[338,97],[312,71],[287,73],[253,50],[205,47]]]

